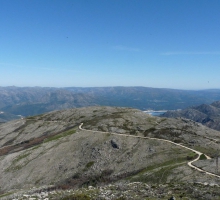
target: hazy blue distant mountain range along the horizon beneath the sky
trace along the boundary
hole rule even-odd
[[[0,87],[0,111],[22,116],[94,105],[174,110],[217,100],[220,100],[220,89],[192,91],[149,87]]]

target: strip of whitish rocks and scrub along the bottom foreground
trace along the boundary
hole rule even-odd
[[[88,186],[81,189],[60,190],[53,186],[32,188],[5,194],[2,200],[147,200],[147,199],[204,199],[217,200],[220,195],[219,185],[194,184],[166,184],[149,185],[141,182],[118,182],[106,186]]]

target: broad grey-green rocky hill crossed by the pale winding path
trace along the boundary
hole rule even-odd
[[[187,165],[197,157],[194,152],[144,137],[201,151],[211,159],[201,156],[195,165],[216,173],[218,131],[192,120],[94,106],[1,124],[0,197],[218,199],[220,179]]]

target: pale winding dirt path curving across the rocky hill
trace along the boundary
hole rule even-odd
[[[136,136],[136,135],[127,135],[127,134],[118,134],[118,133],[111,133],[111,132],[87,130],[87,129],[82,128],[82,125],[83,125],[83,123],[81,123],[81,124],[79,125],[79,129],[80,129],[80,130],[83,130],[83,131],[89,131],[89,132],[93,132],[93,133],[94,133],[94,132],[97,132],[97,133],[109,133],[109,134],[111,134],[111,135],[119,135],[119,136],[125,136],[125,137],[134,137],[134,138],[142,138],[142,139],[150,139],[150,140],[160,140],[160,141],[169,142],[169,143],[174,144],[174,145],[176,145],[176,146],[180,146],[180,147],[182,147],[182,148],[188,149],[188,150],[190,150],[190,151],[192,151],[192,152],[194,152],[194,153],[196,153],[196,154],[198,155],[198,156],[196,157],[196,159],[194,159],[194,160],[192,160],[192,161],[189,161],[189,162],[187,163],[189,167],[191,167],[191,168],[193,168],[193,169],[195,169],[195,170],[197,170],[197,171],[200,171],[200,172],[202,172],[202,173],[205,173],[205,174],[208,174],[208,175],[211,175],[211,176],[220,178],[220,175],[217,175],[217,174],[214,174],[214,173],[205,171],[205,170],[200,169],[200,168],[196,167],[195,165],[193,165],[192,163],[194,163],[194,162],[196,162],[197,160],[199,160],[200,156],[201,156],[203,153],[202,153],[202,152],[199,152],[199,151],[196,151],[196,150],[194,150],[194,149],[191,149],[191,148],[189,148],[189,147],[186,147],[186,146],[184,146],[184,145],[182,145],[182,144],[178,144],[178,143],[172,142],[172,141],[170,141],[170,140],[159,139],[159,138],[151,138],[151,137],[143,137],[143,136]],[[205,155],[205,154],[204,154],[204,155]],[[211,158],[210,158],[209,156],[207,156],[207,155],[205,155],[205,157],[206,157],[207,159],[211,159]]]

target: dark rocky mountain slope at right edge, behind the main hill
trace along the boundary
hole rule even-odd
[[[179,111],[168,111],[161,116],[170,118],[184,117],[202,123],[209,128],[220,130],[220,101]]]

